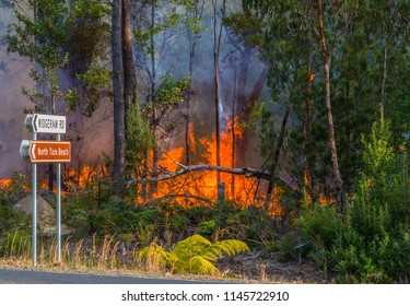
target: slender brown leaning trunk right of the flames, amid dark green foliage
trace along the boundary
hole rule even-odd
[[[325,72],[325,91],[326,91],[325,101],[326,101],[326,114],[327,114],[328,128],[329,128],[329,146],[330,146],[330,154],[331,154],[331,165],[332,165],[332,168],[333,168],[336,186],[337,186],[338,193],[339,193],[340,212],[344,213],[345,199],[344,199],[344,191],[343,191],[343,180],[341,178],[340,169],[339,169],[338,152],[337,152],[337,149],[336,149],[333,116],[332,116],[332,113],[331,113],[331,103],[330,103],[331,55],[329,55],[329,52],[327,50],[327,46],[326,46],[321,0],[317,0],[317,4],[318,4],[320,48],[321,48],[321,56],[323,56],[323,60],[324,60],[324,72]]]

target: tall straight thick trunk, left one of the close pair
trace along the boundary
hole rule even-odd
[[[113,83],[114,83],[114,190],[117,196],[125,191],[125,103],[121,42],[121,0],[113,1]]]

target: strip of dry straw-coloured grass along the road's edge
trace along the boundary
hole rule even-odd
[[[20,239],[19,234],[9,235],[8,240],[0,243],[0,267],[31,268],[31,237]],[[70,272],[96,272],[120,275],[171,276],[167,271],[157,267],[157,260],[139,260],[140,245],[124,242],[114,235],[98,239],[71,242],[67,237],[61,246],[61,261],[58,260],[56,239],[44,239],[37,244],[37,269]],[[274,260],[262,260],[255,254],[241,255],[225,259],[218,264],[218,280],[241,281],[249,283],[327,283],[329,282],[309,262],[281,263]],[[178,275],[180,278],[180,275]],[[189,275],[184,275],[189,279]],[[215,279],[210,276],[191,276],[195,279]]]

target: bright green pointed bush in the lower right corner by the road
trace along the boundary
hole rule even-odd
[[[394,283],[410,274],[409,176],[383,114],[364,148],[358,193],[328,258],[340,282]]]

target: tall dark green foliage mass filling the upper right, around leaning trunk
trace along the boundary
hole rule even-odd
[[[261,59],[270,63],[268,86],[272,101],[277,105],[288,101],[292,107],[289,148],[297,165],[292,174],[303,180],[302,157],[312,176],[309,191],[329,193],[332,191],[328,183],[331,160],[321,85],[325,75],[317,30],[312,26],[317,22],[317,4],[311,4],[246,0],[242,4],[243,13],[231,14],[225,24],[233,35],[257,46]],[[365,149],[361,134],[370,133],[380,102],[391,122],[395,148],[402,145],[409,151],[409,79],[406,75],[410,66],[405,47],[409,45],[409,9],[408,1],[324,3],[328,50],[335,47],[329,54],[332,56],[330,98],[336,146],[349,192],[353,192],[362,166]],[[332,24],[335,16],[340,22]],[[363,80],[363,75],[368,78]]]

